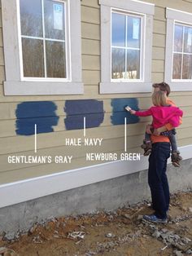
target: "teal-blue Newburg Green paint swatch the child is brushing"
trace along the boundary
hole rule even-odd
[[[139,121],[139,117],[131,115],[128,111],[124,110],[124,107],[126,107],[127,105],[134,110],[139,110],[138,100],[136,98],[111,99],[111,123],[114,126],[123,125],[124,117],[127,117],[127,124],[135,124]]]

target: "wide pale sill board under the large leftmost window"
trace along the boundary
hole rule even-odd
[[[82,95],[82,82],[4,82],[5,95]]]

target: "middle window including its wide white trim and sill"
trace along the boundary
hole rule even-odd
[[[151,91],[154,5],[100,0],[100,93]]]

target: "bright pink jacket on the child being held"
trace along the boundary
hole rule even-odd
[[[157,129],[170,123],[173,127],[180,125],[180,117],[182,117],[183,112],[180,108],[166,106],[166,107],[156,107],[153,106],[146,111],[136,111],[135,113],[138,117],[153,117],[152,126]]]

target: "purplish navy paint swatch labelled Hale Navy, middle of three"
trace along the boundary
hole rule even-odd
[[[104,119],[103,101],[95,99],[67,100],[65,102],[64,119],[66,130],[83,129],[84,117],[86,128],[100,126]]]

